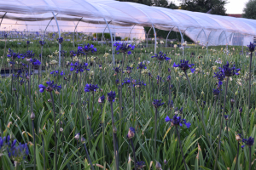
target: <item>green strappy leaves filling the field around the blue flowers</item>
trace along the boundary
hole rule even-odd
[[[3,46],[4,42],[0,42],[0,47]],[[21,46],[17,45],[17,42],[8,42],[7,48],[12,48],[20,53],[26,52],[26,45],[21,42]],[[78,44],[82,42],[76,42],[75,48],[73,48],[73,43],[63,42],[63,50],[76,49]],[[85,43],[85,42],[84,42]],[[48,92],[40,94],[38,92],[38,75],[35,78],[31,78],[32,86],[28,87],[25,84],[20,85],[15,77],[14,86],[17,89],[16,94],[12,91],[11,82],[12,77],[2,77],[0,81],[0,130],[3,135],[12,134],[18,142],[28,143],[30,149],[30,155],[20,164],[20,169],[30,169],[33,164],[33,147],[32,147],[32,125],[30,120],[30,99],[27,97],[27,89],[32,90],[33,102],[32,108],[36,115],[35,118],[35,133],[36,133],[36,162],[38,169],[42,169],[43,164],[43,154],[46,157],[46,169],[53,169],[54,159],[53,153],[55,150],[54,144],[54,133],[58,134],[58,167],[60,170],[80,170],[80,169],[90,169],[90,164],[88,158],[86,157],[84,145],[74,139],[76,133],[80,133],[86,139],[85,144],[88,147],[90,159],[97,170],[113,169],[113,127],[111,124],[111,109],[108,101],[105,104],[99,105],[97,100],[102,94],[107,97],[109,91],[119,91],[118,86],[115,83],[120,75],[113,76],[113,65],[112,55],[108,57],[103,57],[105,52],[111,46],[107,44],[97,44],[97,42],[86,42],[94,43],[95,47],[99,49],[96,54],[96,60],[92,61],[88,56],[90,71],[85,71],[82,74],[75,74],[69,71],[67,66],[57,67],[56,65],[49,65],[45,67],[43,77],[41,77],[42,84],[45,85],[46,81],[54,80],[55,83],[61,84],[62,89],[60,94],[54,94],[55,100],[55,112],[56,112],[56,123],[57,127],[62,122],[63,132],[54,132],[54,122],[53,122],[53,111],[52,104],[48,102],[50,95]],[[143,44],[144,45],[144,44]],[[142,46],[143,46],[142,45]],[[182,50],[179,48],[163,48],[159,45],[157,52],[166,52],[167,57],[172,59],[170,62],[162,62],[161,73],[163,82],[160,82],[160,96],[166,104],[160,107],[159,117],[157,120],[157,150],[154,150],[154,106],[152,105],[152,100],[158,98],[158,84],[156,77],[158,76],[159,65],[158,61],[152,59],[150,54],[153,48],[143,48],[142,46],[137,46],[131,55],[125,57],[125,67],[127,65],[133,65],[133,70],[131,72],[131,77],[138,79],[140,71],[137,70],[137,63],[148,60],[150,63],[147,64],[147,69],[153,75],[150,79],[148,74],[142,74],[141,79],[147,83],[147,86],[143,86],[141,91],[139,88],[135,89],[135,110],[136,115],[133,115],[133,102],[132,93],[133,88],[128,86],[123,86],[122,96],[123,96],[123,119],[119,119],[119,97],[113,103],[113,118],[115,120],[115,126],[118,127],[118,145],[119,145],[119,166],[120,169],[131,170],[134,169],[133,154],[131,151],[131,144],[126,138],[129,127],[136,128],[136,136],[133,139],[137,161],[145,161],[144,169],[155,169],[155,161],[159,161],[163,169],[177,169],[183,170],[183,160],[178,148],[177,133],[174,127],[171,127],[170,123],[165,122],[166,116],[173,116],[173,108],[168,107],[168,90],[169,82],[166,81],[166,77],[171,74],[173,85],[172,88],[172,100],[174,102],[174,107],[183,107],[183,118],[188,122],[191,122],[191,127],[179,127],[179,132],[181,135],[181,141],[183,144],[183,153],[185,156],[185,161],[189,169],[202,170],[202,169],[212,169],[212,164],[214,162],[213,154],[209,149],[209,144],[206,140],[206,133],[202,130],[202,122],[199,121],[198,112],[195,107],[195,101],[191,99],[192,92],[188,87],[188,82],[183,78],[182,71],[172,68],[172,64],[178,63],[180,59],[189,59],[189,63],[195,64],[195,74],[189,74],[189,79],[191,81],[192,87],[198,103],[201,104],[202,101],[206,101],[205,107],[200,106],[201,111],[204,111],[204,122],[207,126],[207,131],[211,137],[213,148],[217,148],[217,135],[219,133],[219,112],[218,107],[223,103],[223,94],[220,98],[220,103],[217,102],[217,107],[214,106],[214,96],[212,94],[212,88],[216,88],[215,83],[218,82],[217,79],[213,78],[214,72],[218,70],[218,66],[224,65],[226,61],[233,61],[236,66],[241,68],[240,75],[232,77],[228,88],[228,100],[226,104],[226,114],[230,115],[231,105],[230,99],[236,99],[236,106],[234,107],[233,115],[230,117],[230,131],[226,133],[223,131],[223,136],[221,136],[221,152],[218,159],[222,169],[227,169],[230,167],[231,170],[235,170],[234,163],[236,161],[236,133],[241,133],[239,111],[237,108],[242,107],[243,113],[241,114],[241,124],[242,127],[249,126],[248,135],[256,137],[256,127],[255,127],[255,110],[253,105],[256,102],[256,88],[255,85],[252,87],[252,97],[250,110],[250,122],[246,122],[247,115],[247,93],[248,93],[248,82],[247,82],[247,65],[248,59],[245,55],[240,55],[241,47],[229,47],[230,55],[224,52],[224,47],[209,47],[208,53],[206,48],[201,48],[197,46],[195,48],[185,48],[184,56],[182,56]],[[143,49],[141,49],[143,48]],[[234,48],[234,50],[232,49]],[[2,48],[3,49],[3,48]],[[40,46],[38,42],[30,44],[30,50],[36,53],[36,57],[40,53]],[[53,51],[58,49],[57,43],[47,42],[44,46],[43,52],[43,65],[45,62],[49,62],[49,58],[46,57],[52,54]],[[213,50],[214,49],[214,50]],[[172,51],[173,50],[173,51]],[[144,52],[147,51],[147,52]],[[3,55],[3,50],[1,50],[1,55]],[[195,57],[190,55],[194,53]],[[68,54],[67,54],[68,56]],[[198,58],[198,56],[203,56]],[[122,54],[115,54],[115,62],[118,66],[123,58]],[[4,61],[7,59],[6,54],[3,55]],[[58,59],[56,55],[52,59]],[[62,58],[63,59],[63,58]],[[84,56],[79,57],[84,62]],[[216,64],[217,59],[222,59],[222,64]],[[21,60],[20,60],[21,61]],[[64,62],[65,61],[65,62]],[[62,63],[66,61],[72,61],[70,57],[65,57]],[[26,62],[22,60],[22,62]],[[99,64],[102,65],[102,70],[99,68]],[[216,66],[216,68],[214,67]],[[18,65],[15,65],[17,68]],[[168,68],[171,72],[168,72]],[[53,76],[49,74],[51,71],[64,71],[65,77],[68,81],[64,80],[61,76]],[[91,71],[94,71],[93,74]],[[253,73],[255,73],[255,68],[253,68]],[[71,73],[70,76],[68,74]],[[190,72],[189,72],[190,73]],[[79,82],[79,77],[81,77],[81,82]],[[125,72],[124,77],[129,77]],[[20,78],[21,79],[21,78]],[[240,80],[241,79],[241,80]],[[256,80],[253,77],[253,82]],[[241,86],[239,83],[241,82]],[[102,92],[97,90],[94,98],[90,94],[84,93],[84,86],[86,83],[98,84],[102,88]],[[35,88],[32,88],[32,87]],[[80,88],[79,88],[80,87]],[[79,90],[82,89],[82,90]],[[239,93],[235,95],[235,92]],[[202,94],[202,92],[204,92]],[[80,95],[79,95],[79,94]],[[140,100],[138,99],[140,95]],[[80,96],[80,99],[79,99]],[[85,101],[86,105],[79,105],[80,101]],[[94,102],[93,102],[94,101]],[[27,105],[28,103],[28,105]],[[73,103],[73,105],[71,105]],[[88,105],[90,109],[88,109]],[[94,135],[91,135],[89,144],[89,133],[90,128],[86,117],[90,115],[91,108],[93,110],[93,116],[90,121],[92,122],[91,130]],[[101,111],[101,108],[103,111]],[[210,115],[212,118],[210,119]],[[59,118],[61,116],[61,120]],[[76,121],[76,117],[78,120]],[[135,117],[135,119],[134,119]],[[102,132],[102,127],[104,127],[104,133]],[[120,128],[119,128],[120,127]],[[42,136],[44,139],[44,150],[41,135],[39,134],[39,128],[43,130]],[[104,138],[103,138],[104,137]],[[241,144],[240,144],[241,145]],[[89,147],[90,146],[90,147]],[[129,147],[130,146],[130,147]],[[252,146],[252,150],[255,150],[256,144]],[[103,149],[105,148],[105,156],[103,156]],[[254,153],[254,152],[253,152]],[[244,150],[240,150],[238,156],[238,169],[247,169],[248,167],[248,148],[245,147]],[[130,158],[131,157],[131,158]],[[154,160],[155,157],[155,160]],[[164,164],[166,159],[167,163]],[[253,154],[252,159],[255,160],[256,156]],[[105,160],[105,161],[104,161]],[[15,169],[13,166],[12,159],[5,153],[1,156],[0,167],[3,169]],[[253,164],[253,169],[256,165]]]

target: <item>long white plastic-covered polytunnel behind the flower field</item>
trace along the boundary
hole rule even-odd
[[[247,45],[256,21],[114,0],[0,1],[0,31],[109,32],[145,39],[143,26],[177,31],[211,46]],[[154,34],[155,35],[155,34]],[[183,39],[182,39],[183,41]]]

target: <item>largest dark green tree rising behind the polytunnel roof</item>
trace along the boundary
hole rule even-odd
[[[218,15],[227,15],[224,5],[227,3],[226,0],[180,0],[183,3],[181,4],[181,9],[201,12],[201,13],[210,13]]]

